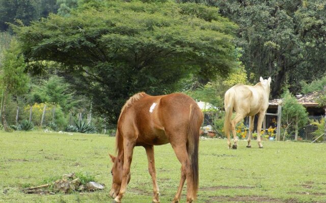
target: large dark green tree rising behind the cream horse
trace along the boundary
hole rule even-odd
[[[285,83],[300,91],[300,81],[311,82],[325,72],[326,2],[323,0],[182,0],[219,7],[238,24],[237,46],[247,73],[271,76],[271,95]],[[314,74],[311,74],[311,73]]]

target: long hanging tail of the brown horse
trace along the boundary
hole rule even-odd
[[[188,125],[188,145],[187,152],[191,160],[193,194],[196,197],[199,185],[198,173],[198,147],[199,147],[199,131],[203,123],[204,116],[198,105],[191,105],[190,118]]]

